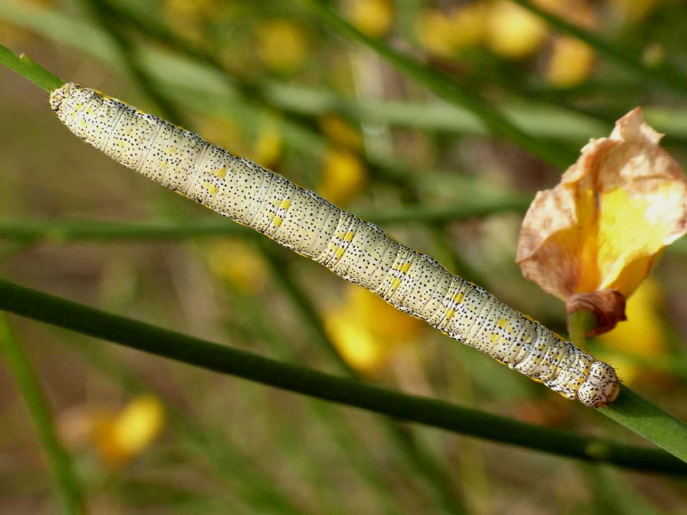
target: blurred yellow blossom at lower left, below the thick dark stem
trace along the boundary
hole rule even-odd
[[[161,433],[164,407],[150,395],[139,396],[119,413],[101,414],[93,438],[106,464],[120,467],[140,455]]]

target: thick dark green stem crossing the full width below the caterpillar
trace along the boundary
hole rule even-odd
[[[365,385],[157,328],[2,280],[0,309],[150,354],[400,420],[587,461],[687,474],[687,464],[661,450],[534,426],[441,400]],[[683,458],[687,459],[687,453]]]

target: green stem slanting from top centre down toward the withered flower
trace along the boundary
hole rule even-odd
[[[513,124],[513,122],[510,122],[509,119],[494,108],[486,99],[475,93],[475,91],[470,91],[443,73],[434,71],[420,62],[399,54],[382,41],[363,34],[363,32],[360,32],[343,19],[326,1],[306,0],[306,3],[321,14],[338,32],[374,50],[374,52],[391,62],[396,68],[407,74],[407,76],[414,78],[427,89],[436,93],[440,98],[471,111],[493,133],[510,139],[515,144],[532,152],[532,155],[536,155],[558,168],[565,169],[571,163],[574,163],[577,156],[572,154],[572,152],[568,152],[564,148],[551,144],[548,141],[532,137],[532,135],[526,133]]]

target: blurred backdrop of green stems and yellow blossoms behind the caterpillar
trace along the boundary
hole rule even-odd
[[[341,0],[365,34],[445,73],[572,158],[641,105],[687,164],[686,91],[644,80],[508,0]],[[687,4],[540,0],[638,56],[687,69]],[[313,189],[565,332],[515,264],[523,213],[562,170],[444,104],[306,3],[3,0],[0,43]],[[73,137],[0,67],[0,218],[217,221]],[[221,221],[221,220],[220,220]],[[97,229],[94,229],[97,233]],[[188,232],[188,231],[187,231]],[[53,235],[55,236],[55,235]],[[101,235],[102,236],[102,235]],[[227,220],[227,236],[0,240],[2,275],[284,361],[518,420],[642,444],[591,409],[406,317]],[[101,241],[102,239],[106,241]],[[666,250],[629,321],[592,342],[633,389],[687,418],[687,246]],[[380,417],[10,317],[93,514],[687,513],[687,483],[587,466]],[[59,504],[0,367],[0,513]]]

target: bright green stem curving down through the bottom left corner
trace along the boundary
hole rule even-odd
[[[14,375],[34,422],[38,439],[41,440],[47,454],[56,490],[62,500],[63,512],[74,515],[85,513],[81,486],[72,468],[71,458],[58,438],[41,385],[23,346],[16,340],[2,312],[0,312],[0,352]]]

